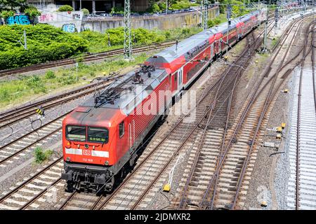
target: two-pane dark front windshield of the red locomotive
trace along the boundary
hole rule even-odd
[[[66,138],[70,141],[107,143],[109,140],[109,131],[106,128],[101,127],[88,127],[87,132],[87,128],[85,126],[67,125]]]

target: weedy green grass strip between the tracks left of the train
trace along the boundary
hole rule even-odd
[[[79,62],[78,73],[76,68],[72,67],[47,71],[44,76],[18,76],[16,80],[2,80],[0,81],[0,106],[4,109],[36,99],[47,93],[69,90],[79,85],[88,84],[93,78],[107,76],[113,71],[143,63],[147,57],[148,55],[143,53],[135,56],[131,62],[124,60],[121,56],[115,60],[98,64]]]

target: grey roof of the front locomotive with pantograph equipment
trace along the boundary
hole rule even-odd
[[[154,91],[166,76],[165,69],[154,69],[153,66],[143,65],[141,69],[131,71],[124,78],[115,80],[81,106],[120,109],[128,115]]]

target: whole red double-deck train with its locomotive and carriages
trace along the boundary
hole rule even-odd
[[[183,90],[267,19],[263,8],[186,38],[77,106],[62,121],[65,190],[111,191]]]

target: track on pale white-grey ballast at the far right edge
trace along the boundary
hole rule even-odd
[[[312,48],[310,59],[308,46]],[[296,210],[316,209],[315,19],[310,23],[306,33],[302,60],[294,77],[296,81],[289,141],[290,176],[287,206]]]

